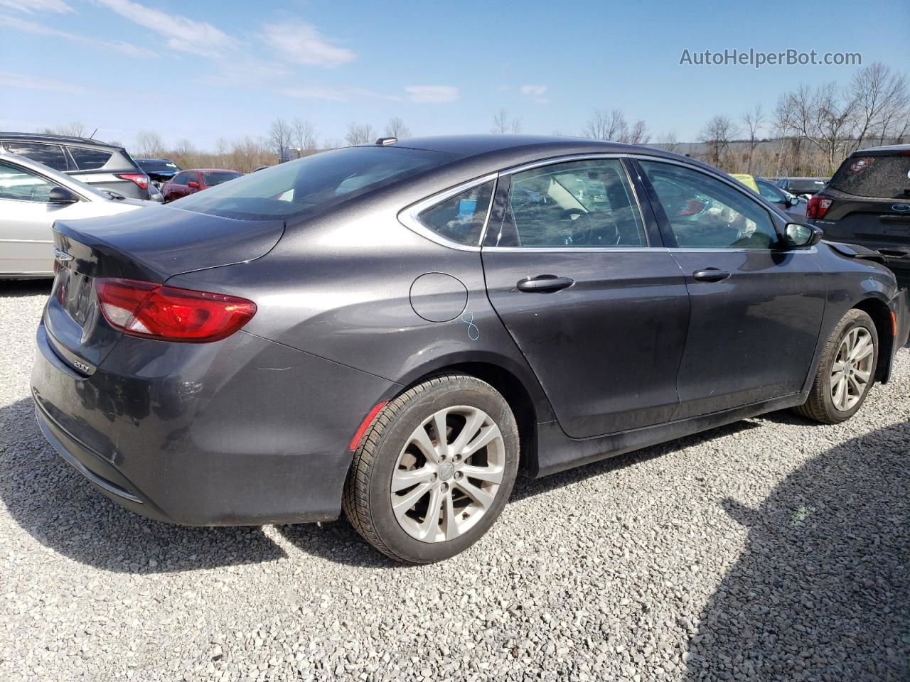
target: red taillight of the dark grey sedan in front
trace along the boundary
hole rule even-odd
[[[256,304],[246,298],[135,279],[99,277],[96,290],[111,326],[130,336],[160,341],[218,341],[256,314]]]

